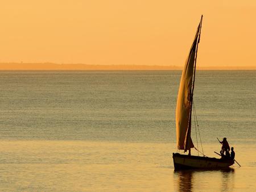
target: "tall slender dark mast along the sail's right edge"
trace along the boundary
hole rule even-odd
[[[187,151],[187,144],[188,144],[188,139],[190,139],[190,135],[191,135],[191,117],[192,117],[192,104],[193,104],[193,92],[194,92],[194,88],[195,88],[195,76],[196,76],[196,59],[197,59],[197,49],[198,49],[198,44],[200,42],[200,36],[201,36],[201,28],[202,28],[202,22],[203,22],[203,15],[201,15],[201,20],[200,20],[200,24],[199,24],[199,35],[197,37],[197,43],[196,43],[196,53],[195,53],[195,61],[194,61],[194,67],[193,67],[193,82],[192,82],[192,86],[191,86],[191,92],[190,92],[190,111],[189,111],[189,123],[188,123],[188,132],[187,132],[187,137],[186,137],[186,141],[185,141],[185,149],[184,152]],[[190,148],[189,148],[190,149]]]

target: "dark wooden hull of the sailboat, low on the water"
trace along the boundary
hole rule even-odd
[[[225,169],[234,164],[234,160],[188,156],[180,153],[172,153],[174,158],[174,170],[184,169]]]

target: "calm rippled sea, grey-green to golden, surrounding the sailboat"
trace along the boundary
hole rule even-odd
[[[180,76],[0,72],[0,191],[256,191],[256,71],[196,72],[193,143],[229,170],[174,172]]]

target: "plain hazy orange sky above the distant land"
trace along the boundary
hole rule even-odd
[[[256,67],[255,10],[253,0],[1,1],[0,62],[183,66],[203,14],[197,66]]]

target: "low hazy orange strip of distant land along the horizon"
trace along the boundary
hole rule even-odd
[[[0,71],[136,71],[136,70],[182,70],[175,65],[88,65],[53,63],[0,63]],[[198,70],[256,70],[256,66],[207,66]]]

